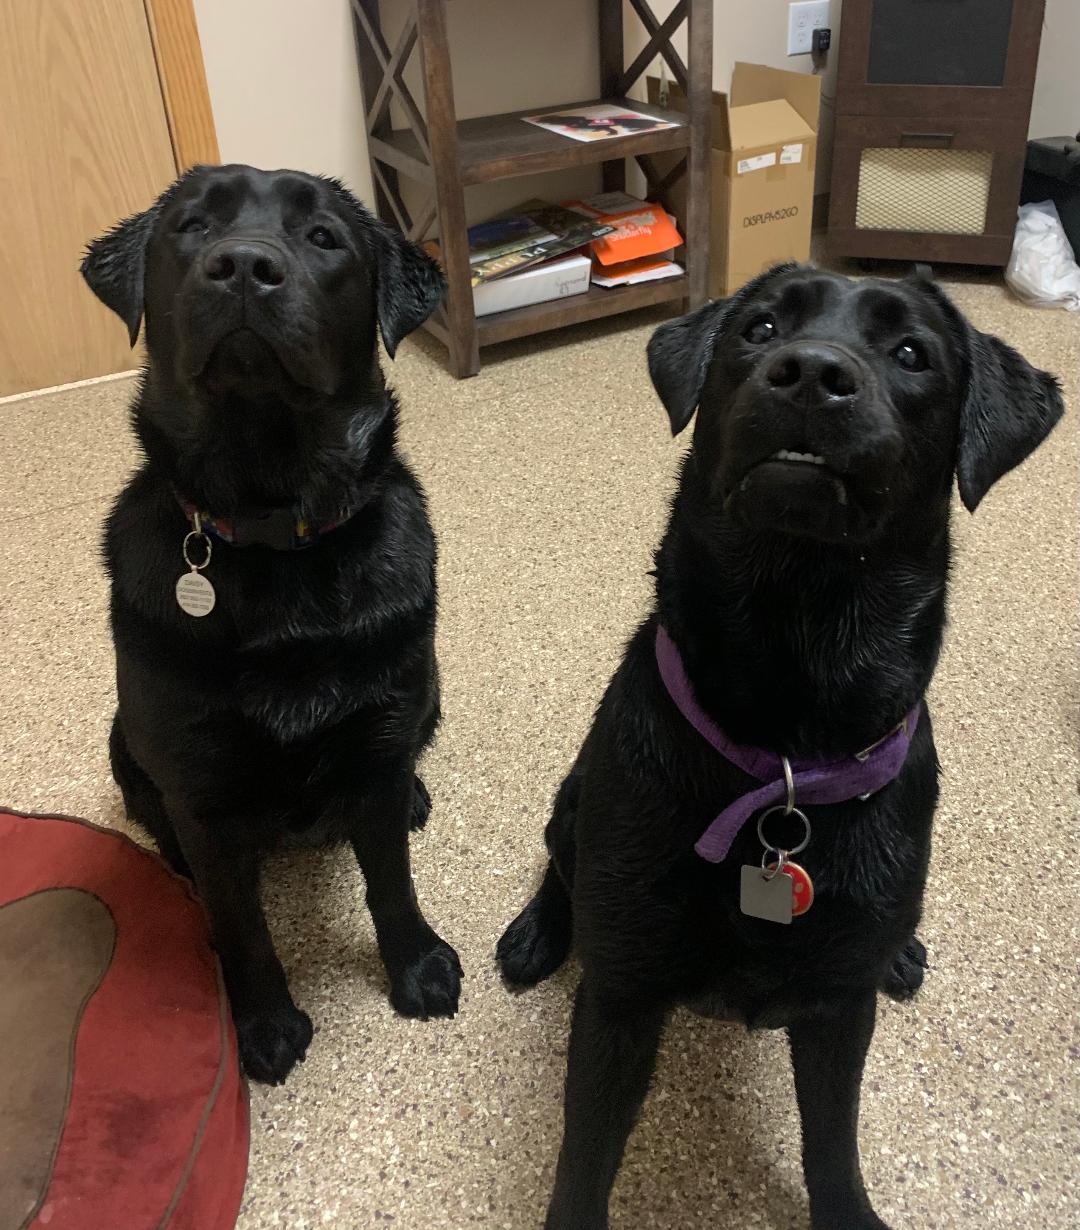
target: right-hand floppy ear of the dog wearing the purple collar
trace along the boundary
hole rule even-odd
[[[1064,412],[1062,390],[998,337],[964,322],[967,392],[959,413],[956,478],[973,513],[983,496],[1049,435]]]

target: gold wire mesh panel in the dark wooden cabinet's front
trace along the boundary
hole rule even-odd
[[[855,225],[982,235],[993,162],[989,150],[865,149]]]

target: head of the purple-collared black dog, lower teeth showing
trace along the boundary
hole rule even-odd
[[[653,384],[715,509],[867,541],[947,501],[974,510],[1062,415],[1058,384],[930,282],[780,266],[661,326]]]

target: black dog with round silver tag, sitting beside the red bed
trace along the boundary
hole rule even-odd
[[[188,172],[82,273],[133,343],[146,317],[145,462],[105,544],[113,775],[205,902],[244,1066],[280,1081],[311,1022],[260,905],[276,844],[351,841],[394,1006],[458,1006],[408,863],[439,720],[435,544],[375,337],[392,355],[443,278],[339,183],[244,166]]]

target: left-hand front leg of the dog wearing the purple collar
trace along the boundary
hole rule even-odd
[[[661,1004],[578,988],[566,1070],[566,1130],[546,1230],[605,1230],[622,1150],[656,1066]]]

